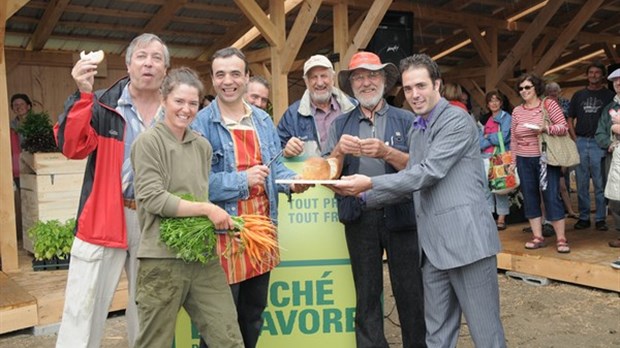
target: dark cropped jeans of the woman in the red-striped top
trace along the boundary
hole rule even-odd
[[[547,220],[564,219],[566,213],[560,196],[560,167],[547,166],[547,189],[544,191],[540,190],[540,157],[517,156],[517,170],[521,180],[525,217],[534,219],[542,216],[540,210],[542,192]]]

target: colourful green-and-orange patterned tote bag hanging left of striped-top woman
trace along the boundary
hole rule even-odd
[[[519,175],[516,170],[514,173],[509,170],[512,153],[506,151],[501,127],[497,132],[497,139],[499,147],[495,147],[493,156],[489,159],[489,189],[495,194],[506,195],[519,187]]]

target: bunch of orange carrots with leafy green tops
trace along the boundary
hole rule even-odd
[[[246,253],[256,268],[264,255],[278,250],[277,230],[270,218],[241,215],[232,219],[235,228],[226,232],[233,238],[224,251],[225,257]],[[216,233],[213,222],[206,217],[162,218],[160,222],[160,240],[186,262],[207,263],[217,258]]]

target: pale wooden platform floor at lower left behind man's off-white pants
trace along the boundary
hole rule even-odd
[[[15,291],[21,291],[28,294],[36,301],[36,321],[24,327],[47,325],[60,322],[62,317],[62,309],[65,301],[65,287],[67,283],[67,271],[38,271],[32,270],[32,257],[25,250],[20,250],[19,254],[19,272],[7,273],[11,281],[19,288]],[[5,288],[2,287],[2,298]],[[19,302],[14,305],[19,305]],[[125,272],[121,276],[121,280],[116,289],[114,299],[110,306],[110,311],[124,310],[127,305],[127,279]],[[0,317],[4,317],[4,311],[0,311]],[[31,320],[32,321],[32,320]],[[6,331],[8,332],[8,331]]]

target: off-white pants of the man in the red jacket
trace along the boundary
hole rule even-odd
[[[135,303],[137,252],[140,227],[134,210],[125,208],[128,250],[106,248],[76,238],[71,247],[71,263],[65,290],[65,306],[57,348],[97,348],[101,345],[105,320],[116,292],[123,267],[129,298],[125,318],[129,347],[138,335]]]

